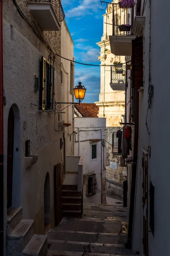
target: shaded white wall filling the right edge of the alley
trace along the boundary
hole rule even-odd
[[[142,0],[141,6],[143,7]],[[144,90],[139,93],[139,151],[138,151],[138,168],[136,177],[136,196],[135,211],[133,223],[133,250],[140,251],[143,255],[143,207],[142,207],[142,155],[143,151],[147,152],[147,147],[151,147],[151,156],[148,155],[148,244],[150,256],[168,255],[169,254],[169,83],[167,76],[169,73],[169,17],[166,7],[159,0],[151,1],[151,48],[149,49],[150,37],[150,9],[147,1],[143,15],[145,18],[143,34],[143,65],[144,65]],[[159,14],[159,15],[158,15]],[[148,78],[149,78],[149,51],[151,56],[151,84],[153,84],[154,95],[152,106],[148,110]],[[150,135],[146,129],[147,124]],[[164,136],[162,136],[164,134]],[[150,199],[149,183],[152,180],[155,186],[154,199],[154,226],[155,234],[150,232]]]

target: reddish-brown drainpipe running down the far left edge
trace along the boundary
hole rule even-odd
[[[0,0],[0,255],[3,256],[3,1]]]

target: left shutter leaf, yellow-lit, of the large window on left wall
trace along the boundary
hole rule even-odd
[[[45,70],[46,70],[46,61],[45,58],[42,56],[41,58],[41,84],[40,84],[40,103],[39,109],[45,109]]]

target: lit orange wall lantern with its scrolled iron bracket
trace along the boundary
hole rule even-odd
[[[85,87],[82,86],[81,82],[79,82],[79,84],[77,86],[75,86],[75,88],[74,88],[74,95],[75,95],[75,98],[77,99],[77,101],[79,102],[79,105],[80,105],[80,102],[82,102],[82,100],[85,98],[85,91],[86,90],[87,89],[85,89]],[[68,108],[71,105],[72,105],[72,108],[74,108],[75,102],[55,102],[55,109],[57,111],[62,111],[62,110],[65,109],[65,108],[62,108],[61,104],[69,104],[65,108]]]

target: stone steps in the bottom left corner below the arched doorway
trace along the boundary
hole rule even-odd
[[[7,256],[46,256],[47,236],[34,235],[34,220],[22,218],[22,207],[7,212]]]

